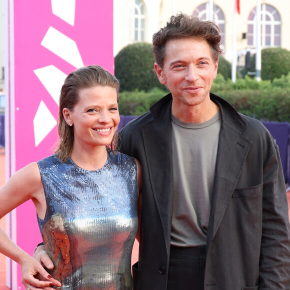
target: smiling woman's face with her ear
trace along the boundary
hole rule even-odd
[[[116,89],[100,85],[82,88],[74,108],[64,108],[63,115],[73,125],[74,144],[83,148],[108,145],[120,121]]]

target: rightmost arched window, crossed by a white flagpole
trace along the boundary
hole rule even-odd
[[[247,45],[256,45],[256,8],[254,7],[247,21]],[[281,45],[281,18],[271,5],[261,4],[261,47]]]

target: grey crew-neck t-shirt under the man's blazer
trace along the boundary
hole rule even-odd
[[[173,217],[171,245],[206,244],[220,112],[202,123],[184,123],[171,114]]]

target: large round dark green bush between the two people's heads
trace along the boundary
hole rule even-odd
[[[115,56],[115,76],[121,90],[149,91],[153,87],[165,90],[156,76],[154,61],[150,43],[137,42],[121,49]]]

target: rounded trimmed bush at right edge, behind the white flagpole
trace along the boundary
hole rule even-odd
[[[251,57],[251,71],[255,71],[255,54]],[[290,51],[280,47],[261,50],[261,78],[273,80],[290,71]]]

